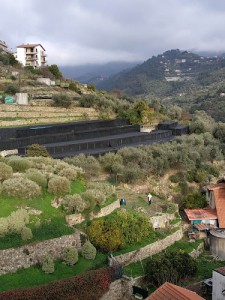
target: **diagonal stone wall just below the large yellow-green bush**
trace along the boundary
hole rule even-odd
[[[149,244],[138,250],[115,256],[115,259],[123,265],[129,265],[133,262],[143,260],[153,254],[156,254],[156,253],[166,249],[167,247],[169,247],[176,241],[179,241],[182,237],[183,237],[183,231],[182,231],[182,229],[179,229],[178,231],[167,236],[163,240]]]

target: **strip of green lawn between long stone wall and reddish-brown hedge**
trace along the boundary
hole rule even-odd
[[[38,266],[20,269],[16,273],[0,276],[0,291],[48,284],[49,282],[69,278],[90,269],[106,266],[106,262],[107,256],[97,253],[95,260],[86,260],[83,257],[79,257],[79,261],[75,266],[67,266],[61,261],[56,261],[53,274],[45,274]]]

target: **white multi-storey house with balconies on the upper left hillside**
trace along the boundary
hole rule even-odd
[[[23,66],[39,68],[47,63],[47,55],[41,44],[22,44],[16,48],[17,52],[14,56]]]

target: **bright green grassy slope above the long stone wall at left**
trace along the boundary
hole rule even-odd
[[[71,184],[71,193],[81,193],[84,191],[85,186],[81,181],[74,181]],[[34,199],[18,199],[15,197],[0,196],[0,217],[7,217],[12,211],[18,207],[29,207],[42,211],[38,216],[30,217],[29,227],[33,232],[33,241],[41,241],[45,239],[55,238],[62,235],[71,234],[74,232],[73,228],[67,226],[65,221],[66,212],[61,208],[54,208],[51,206],[51,201],[54,198],[47,191],[44,192],[42,197]],[[35,222],[40,219],[40,226],[36,227]],[[7,249],[11,247],[19,247],[27,244],[17,234],[6,235],[0,238],[0,249]]]

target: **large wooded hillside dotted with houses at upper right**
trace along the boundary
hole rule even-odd
[[[205,57],[178,49],[166,51],[110,77],[97,88],[178,104],[191,112],[203,109],[225,122],[224,55]]]

